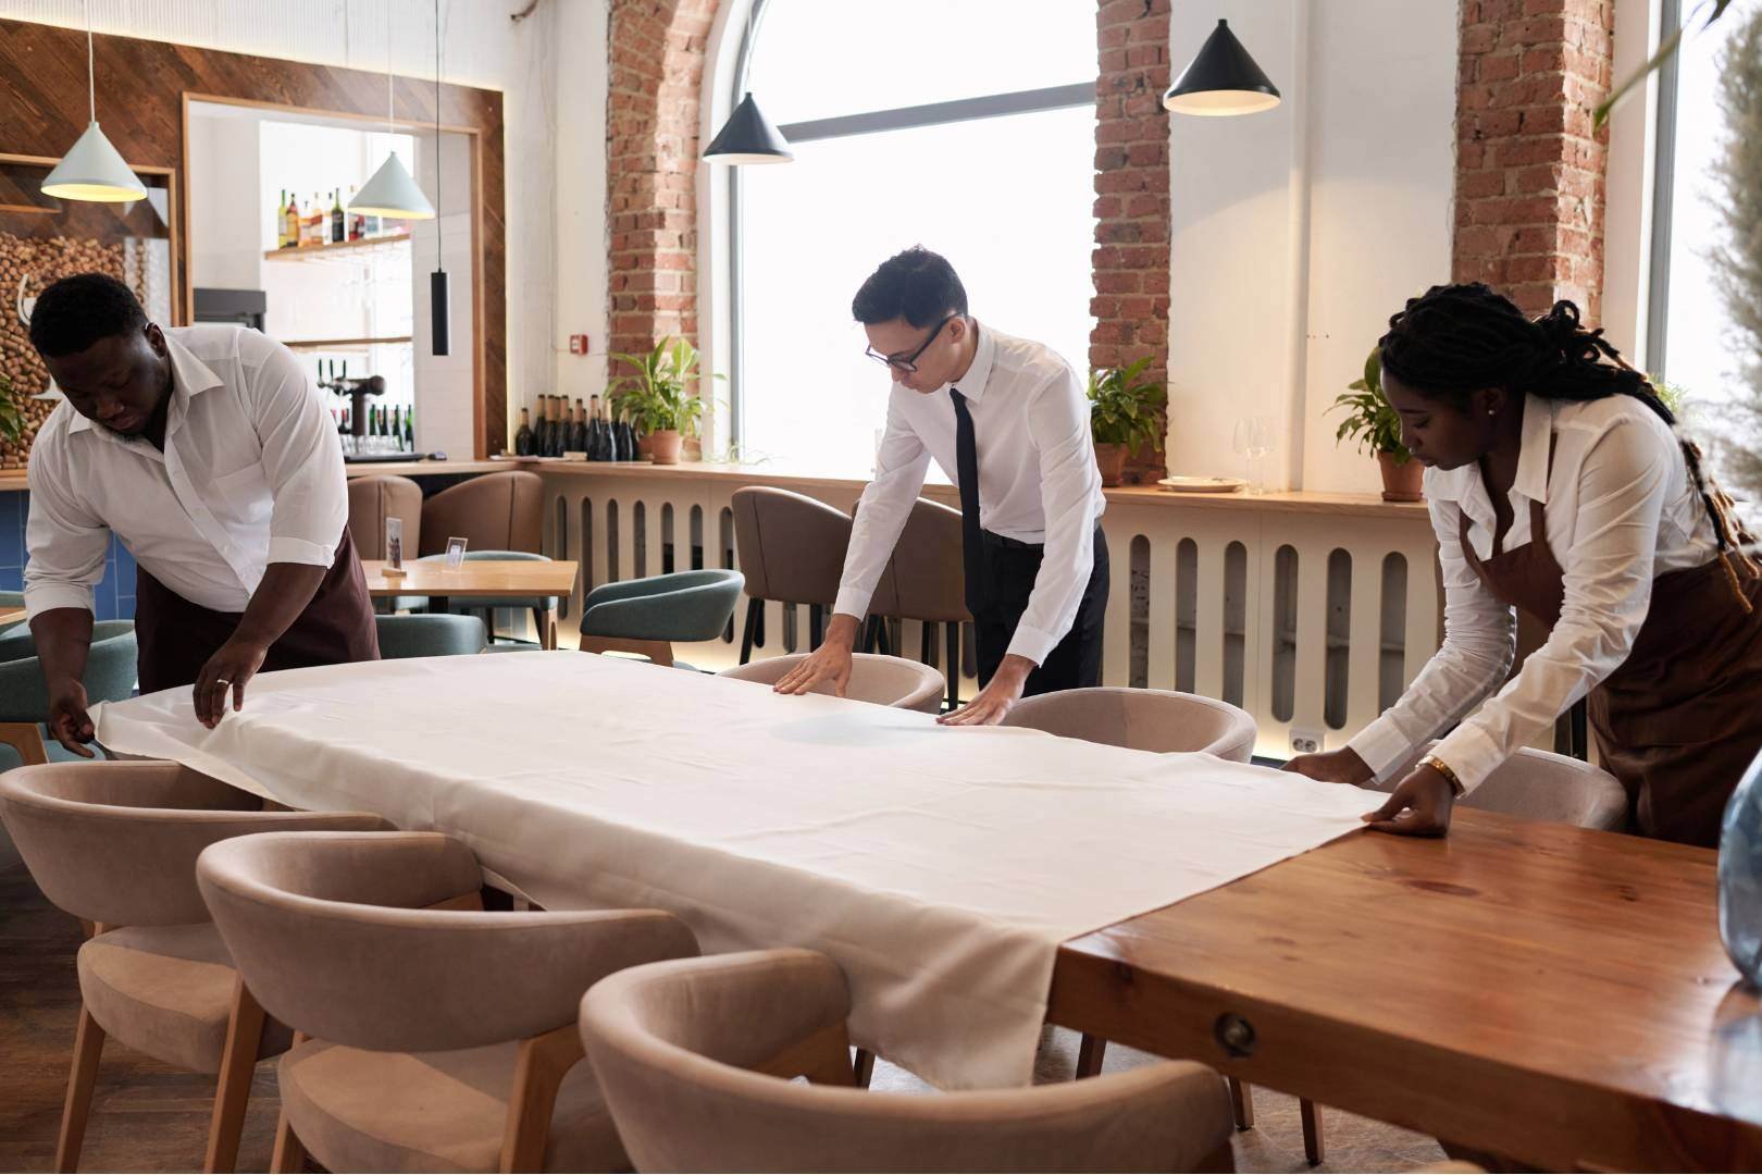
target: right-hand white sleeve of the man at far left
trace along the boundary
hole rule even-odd
[[[329,567],[349,521],[335,423],[300,361],[280,344],[248,382],[247,396],[275,499],[268,562]]]

